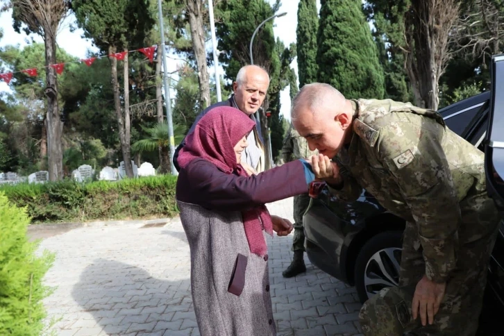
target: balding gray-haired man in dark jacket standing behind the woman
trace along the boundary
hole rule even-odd
[[[198,124],[199,119],[206,115],[213,108],[219,106],[230,106],[241,110],[246,115],[255,121],[257,127],[249,134],[247,142],[249,146],[244,150],[242,155],[242,165],[249,174],[260,173],[264,171],[264,139],[262,137],[259,118],[254,116],[254,113],[259,110],[266,98],[266,93],[269,87],[269,75],[262,67],[258,65],[246,65],[240,69],[236,76],[236,81],[233,83],[233,94],[227,101],[221,101],[209,106],[201,112],[192,124],[187,135],[194,131],[194,127]],[[186,137],[187,137],[186,135]],[[174,153],[174,166],[177,171],[180,171],[178,166],[178,152],[185,146],[185,138],[178,145]]]

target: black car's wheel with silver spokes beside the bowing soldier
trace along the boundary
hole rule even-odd
[[[355,289],[362,303],[385,287],[399,285],[402,231],[386,231],[362,246],[355,260]]]

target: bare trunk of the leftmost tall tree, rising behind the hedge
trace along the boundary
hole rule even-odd
[[[61,138],[63,123],[60,119],[58,108],[58,78],[56,69],[49,67],[56,64],[56,35],[46,31],[44,36],[46,51],[46,89],[47,96],[47,145],[49,149],[49,180],[61,180],[63,178],[63,151]]]

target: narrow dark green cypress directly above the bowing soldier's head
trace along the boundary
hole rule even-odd
[[[317,15],[316,0],[300,0],[298,6],[297,55],[299,87],[317,81]]]

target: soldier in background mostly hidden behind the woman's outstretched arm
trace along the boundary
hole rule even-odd
[[[280,152],[280,165],[300,158],[310,158],[314,154],[317,154],[317,151],[310,151],[308,142],[291,125],[283,141],[282,151]],[[308,194],[294,196],[294,238],[292,239],[294,258],[289,267],[282,273],[285,278],[292,278],[306,271],[303,260],[303,252],[305,251],[303,215],[308,209],[308,205],[310,205],[310,196]]]

